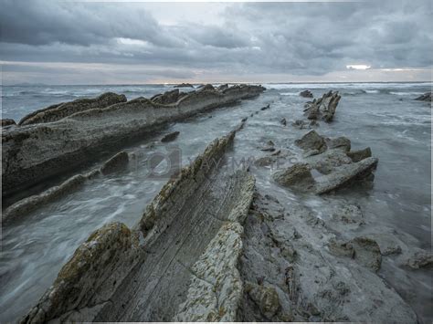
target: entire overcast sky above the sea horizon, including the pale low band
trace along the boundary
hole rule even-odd
[[[430,0],[0,0],[3,84],[431,80]]]

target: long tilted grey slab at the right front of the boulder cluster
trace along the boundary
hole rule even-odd
[[[322,175],[316,179],[316,193],[330,193],[349,183],[368,179],[377,167],[377,158],[366,158],[352,164],[343,164],[330,174]]]

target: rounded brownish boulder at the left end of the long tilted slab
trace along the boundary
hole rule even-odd
[[[304,163],[296,163],[286,170],[274,172],[272,178],[281,185],[294,187],[302,191],[307,191],[314,185],[312,172],[308,165]]]

